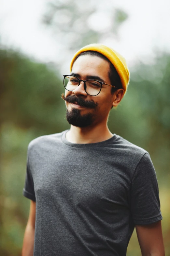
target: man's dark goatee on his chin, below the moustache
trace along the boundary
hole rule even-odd
[[[93,121],[91,113],[81,115],[79,109],[66,110],[66,119],[70,125],[79,128],[90,126]]]

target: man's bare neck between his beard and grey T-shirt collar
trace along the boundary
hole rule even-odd
[[[113,134],[109,131],[107,123],[85,128],[71,125],[70,130],[66,133],[67,141],[77,144],[97,143],[108,140],[112,136]]]

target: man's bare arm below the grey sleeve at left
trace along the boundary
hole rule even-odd
[[[33,256],[34,253],[35,210],[36,203],[31,200],[29,218],[23,239],[22,256]]]

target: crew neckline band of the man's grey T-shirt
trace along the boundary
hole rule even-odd
[[[102,145],[105,145],[105,144],[109,144],[109,143],[113,143],[113,141],[116,139],[116,134],[114,133],[113,136],[108,139],[108,140],[105,140],[105,141],[101,141],[101,142],[96,142],[96,143],[87,143],[87,144],[77,144],[77,143],[72,143],[72,142],[69,142],[66,140],[65,136],[66,136],[66,133],[67,131],[69,130],[65,130],[62,134],[62,142],[68,146],[71,146],[71,147],[95,147],[95,146],[102,146]]]

